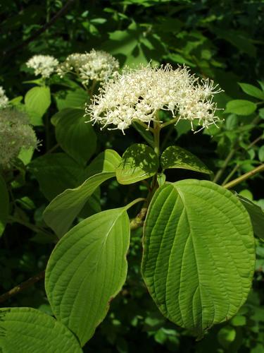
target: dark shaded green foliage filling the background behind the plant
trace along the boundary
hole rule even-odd
[[[56,15],[65,5],[67,8],[62,16]],[[34,159],[54,148],[56,141],[63,146],[65,136],[56,136],[54,114],[66,107],[76,108],[77,119],[82,116],[78,109],[82,108],[86,96],[77,84],[67,81],[62,84],[52,78],[51,100],[49,93],[39,90],[42,104],[37,104],[36,112],[36,104],[27,93],[35,86],[29,82],[34,76],[25,61],[33,54],[51,54],[63,60],[73,52],[89,52],[94,48],[110,52],[122,65],[147,64],[150,60],[172,66],[186,64],[194,73],[219,83],[225,90],[217,97],[219,107],[225,109],[220,112],[225,119],[220,128],[194,135],[189,131],[189,124],[181,121],[166,131],[163,140],[167,145],[177,144],[198,155],[215,172],[220,184],[263,162],[264,1],[2,0],[0,16],[0,85],[4,86],[8,97],[17,97],[16,101],[25,103],[27,112],[31,112],[32,123],[42,140]],[[46,100],[43,99],[45,95]],[[98,132],[97,145],[93,144],[92,138],[81,141],[82,147],[91,150],[91,156],[106,148],[122,154],[132,143],[142,142],[132,128],[125,138],[120,132],[99,129]],[[61,148],[57,148],[57,152],[61,153]],[[75,157],[74,148],[67,152]],[[16,217],[25,225],[30,221],[42,227],[44,208],[65,189],[63,178],[59,182],[56,180],[56,172],[52,183],[47,185],[45,177],[39,179],[39,170],[42,168],[49,174],[47,164],[52,169],[58,160],[63,164],[63,159],[75,170],[75,161],[69,156],[57,159],[55,154],[48,156],[49,163],[43,164],[39,158],[30,164],[28,168],[32,174],[25,174],[23,166],[16,171],[12,202]],[[85,179],[79,172],[73,174],[75,178],[70,180],[70,187]],[[170,181],[199,179],[199,174],[186,170],[169,170],[166,174]],[[39,192],[38,182],[42,192]],[[67,187],[68,182],[65,181]],[[258,175],[239,184],[236,191],[264,207],[261,185],[263,177]],[[133,185],[117,189],[116,182],[108,182],[101,189],[103,209],[116,207],[118,203],[125,205],[135,192]],[[46,234],[12,221],[1,238],[2,292],[44,270],[54,247],[54,239]],[[149,297],[140,276],[141,237],[142,229],[132,233],[126,285],[111,303],[106,320],[84,347],[84,352],[263,352],[264,246],[261,241],[257,243],[256,274],[248,301],[232,321],[214,327],[201,342],[195,342],[187,330],[166,321]],[[3,304],[31,306],[51,314],[47,303],[44,285],[38,282]]]

